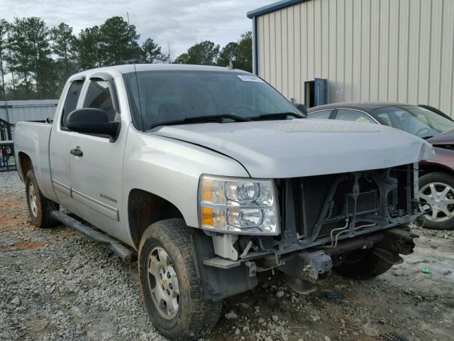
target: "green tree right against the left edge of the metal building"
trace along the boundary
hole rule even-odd
[[[227,66],[230,61],[233,67],[253,72],[253,33],[248,31],[241,35],[236,43],[228,43],[219,53],[218,65]]]

